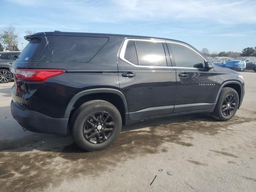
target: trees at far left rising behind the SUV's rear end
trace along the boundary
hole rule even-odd
[[[25,31],[26,35],[32,35],[35,32],[31,30]],[[19,34],[14,26],[4,26],[0,29],[0,51],[19,51],[18,48]]]

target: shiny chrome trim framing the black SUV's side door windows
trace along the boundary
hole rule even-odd
[[[186,46],[188,47],[189,49],[193,50],[194,52],[196,52],[196,54],[198,54],[200,57],[203,58],[204,61],[207,61],[202,55],[200,55],[196,50],[194,50],[193,48],[191,48],[190,46],[186,45],[186,44],[183,44],[183,43],[180,43],[180,42],[175,42],[175,41],[171,41],[171,40],[156,40],[156,39],[139,39],[139,38],[127,38],[124,40],[124,43],[122,45],[122,48],[121,48],[121,51],[120,51],[120,54],[119,54],[119,58],[121,60],[123,60],[124,62],[132,65],[132,66],[135,66],[135,67],[146,67],[146,68],[174,68],[176,66],[141,66],[141,65],[136,65],[136,64],[133,64],[132,62],[126,60],[126,58],[124,58],[124,54],[125,54],[125,51],[126,51],[126,46],[127,46],[127,43],[128,41],[131,40],[131,41],[148,41],[148,42],[161,42],[161,43],[164,43],[164,42],[170,42],[170,43],[175,43],[175,44],[180,44],[180,45],[183,45],[183,46]],[[179,67],[179,68],[191,68],[191,69],[196,69],[196,68],[192,68],[192,67]]]

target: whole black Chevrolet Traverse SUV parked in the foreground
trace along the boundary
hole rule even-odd
[[[12,65],[12,116],[24,130],[67,134],[101,150],[122,125],[211,113],[229,120],[242,103],[238,72],[184,42],[118,34],[43,32]]]

